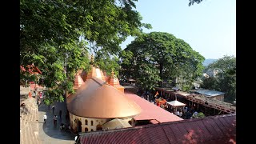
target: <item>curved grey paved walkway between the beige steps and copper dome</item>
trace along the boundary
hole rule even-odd
[[[59,126],[61,122],[66,123],[66,102],[56,102],[55,103],[54,114],[58,116],[59,110],[62,110],[62,118],[58,116],[57,126],[54,126],[54,114],[50,107],[43,104],[43,102],[38,107],[38,118],[39,118],[39,138],[42,143],[46,144],[74,144],[74,134],[70,131],[60,130]],[[43,115],[47,115],[46,124],[43,123]]]

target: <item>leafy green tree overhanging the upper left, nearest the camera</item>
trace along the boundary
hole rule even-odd
[[[89,49],[118,54],[127,36],[150,27],[141,22],[134,1],[20,1],[20,63],[25,68],[34,63],[42,70],[41,84],[49,88],[47,104],[62,101],[65,89],[74,92],[74,74],[88,67]]]

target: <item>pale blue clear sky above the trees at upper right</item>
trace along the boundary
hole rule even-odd
[[[207,58],[236,55],[236,1],[203,0],[188,6],[189,0],[138,0],[136,9],[150,30],[174,34]],[[126,48],[134,38],[122,43]]]

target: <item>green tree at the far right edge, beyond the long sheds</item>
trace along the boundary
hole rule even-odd
[[[224,101],[234,102],[236,99],[236,58],[225,55],[211,63],[206,70],[219,70],[216,78],[203,80],[202,88],[218,90],[225,93]],[[211,82],[211,79],[214,81]]]

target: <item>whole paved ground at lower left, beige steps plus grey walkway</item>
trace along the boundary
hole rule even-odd
[[[52,110],[43,102],[37,106],[35,98],[29,98],[30,89],[20,87],[20,143],[21,144],[74,144],[74,134],[59,130],[61,121],[66,122],[66,102],[55,103],[55,114],[62,110],[62,119],[58,118],[58,126],[54,127]],[[47,114],[46,124],[43,115]]]

